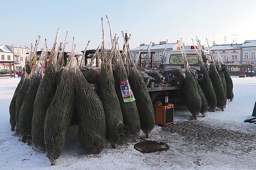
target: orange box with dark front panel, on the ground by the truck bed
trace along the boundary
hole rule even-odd
[[[156,124],[169,125],[174,121],[174,104],[162,106],[162,104],[154,105]]]

